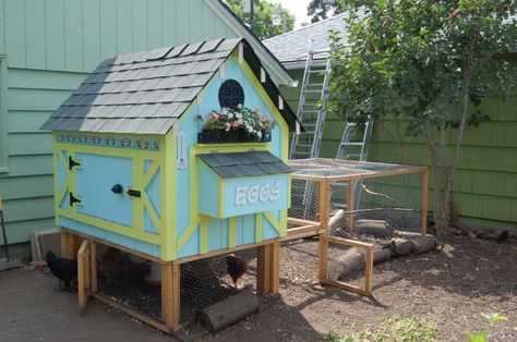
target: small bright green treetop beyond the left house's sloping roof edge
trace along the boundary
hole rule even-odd
[[[284,28],[286,28],[286,32],[294,28],[294,16],[279,3],[269,3],[266,0],[254,1],[253,33],[258,39],[262,40],[281,35]],[[250,14],[244,13],[243,10],[244,0],[225,0],[225,3],[243,23],[250,23]],[[280,8],[281,24],[275,26],[272,21],[273,11],[277,7]],[[286,21],[287,25],[285,25]]]

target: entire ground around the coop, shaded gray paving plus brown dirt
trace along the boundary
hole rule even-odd
[[[437,341],[467,341],[467,331],[483,329],[489,331],[489,341],[517,341],[515,240],[495,244],[452,237],[442,252],[378,265],[374,269],[374,300],[316,284],[316,241],[285,243],[281,248],[280,295],[262,297],[262,308],[257,314],[217,334],[209,335],[191,326],[181,331],[178,339],[323,341],[328,333],[350,334],[373,328],[384,318],[399,316],[435,323]],[[250,265],[247,277],[253,278],[254,271]],[[56,292],[50,277],[34,270],[17,273],[32,278],[21,282],[16,280],[19,276],[12,273],[0,277],[0,290],[5,297],[2,303],[15,303],[0,304],[0,313],[4,312],[0,316],[9,318],[1,325],[2,341],[3,329],[3,337],[9,337],[5,341],[68,340],[64,337],[77,335],[79,332],[91,340],[103,335],[109,335],[111,341],[175,340],[95,301],[88,304],[86,313],[80,315],[75,294]],[[43,280],[35,278],[35,273]],[[20,292],[23,290],[19,289],[21,283],[34,289]],[[39,295],[31,296],[31,292]],[[16,295],[23,297],[16,298]],[[50,308],[45,301],[52,303]],[[45,313],[43,307],[46,307]],[[36,315],[38,309],[43,316]],[[500,313],[510,320],[491,327],[483,321],[481,313]],[[28,318],[22,318],[25,317],[22,314]]]

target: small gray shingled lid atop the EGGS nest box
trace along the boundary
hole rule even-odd
[[[293,169],[268,151],[197,155],[223,179],[290,173]]]

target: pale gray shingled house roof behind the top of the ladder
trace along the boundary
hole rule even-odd
[[[264,45],[287,68],[289,64],[298,64],[306,60],[306,52],[313,40],[313,50],[328,49],[328,33],[338,29],[346,38],[345,24],[342,22],[346,13],[335,15],[330,19],[301,27],[297,30],[286,33],[263,40]],[[315,56],[315,59],[325,59],[326,53]]]

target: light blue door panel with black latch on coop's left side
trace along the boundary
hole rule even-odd
[[[133,185],[133,160],[124,157],[76,154],[81,168],[76,170],[76,194],[81,213],[133,225],[133,201],[117,186],[127,190]]]

